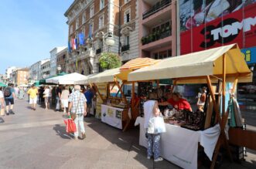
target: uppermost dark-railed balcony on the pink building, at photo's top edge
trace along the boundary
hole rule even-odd
[[[142,14],[142,19],[146,19],[149,16],[154,15],[156,12],[159,12],[163,8],[166,8],[171,4],[171,2],[171,0],[162,0],[157,2],[155,5],[152,5],[152,8]]]

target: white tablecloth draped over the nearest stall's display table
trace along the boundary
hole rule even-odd
[[[138,124],[140,124],[139,144],[147,148],[144,118],[138,117],[135,125]],[[219,135],[219,125],[204,131],[193,131],[166,123],[166,133],[161,134],[160,139],[161,155],[179,167],[197,168],[198,143],[200,142],[204,147],[204,151],[211,160]]]

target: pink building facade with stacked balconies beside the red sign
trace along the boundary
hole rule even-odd
[[[139,56],[176,56],[176,1],[139,1]]]

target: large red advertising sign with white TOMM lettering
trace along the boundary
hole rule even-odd
[[[256,46],[256,3],[181,32],[181,54],[237,43]]]

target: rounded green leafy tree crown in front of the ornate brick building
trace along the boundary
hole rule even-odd
[[[114,69],[121,66],[121,59],[112,52],[102,52],[99,63],[103,69]]]

